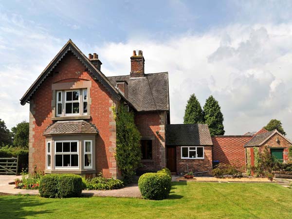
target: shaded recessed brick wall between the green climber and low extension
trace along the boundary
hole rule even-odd
[[[142,139],[152,140],[152,160],[142,160],[144,165],[138,173],[157,171],[165,167],[164,112],[139,112],[135,115],[135,123]],[[162,127],[161,127],[162,125]],[[159,135],[156,134],[159,132]]]

